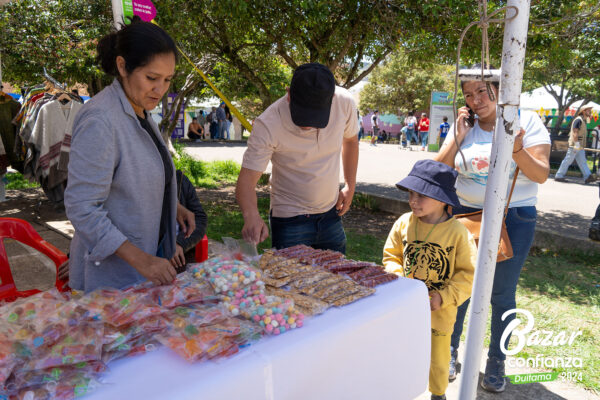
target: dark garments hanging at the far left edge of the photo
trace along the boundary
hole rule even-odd
[[[21,105],[10,95],[0,94],[0,175],[6,173],[8,166],[18,168],[19,157],[14,151],[17,131],[12,119],[20,108]]]

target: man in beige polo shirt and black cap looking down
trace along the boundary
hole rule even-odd
[[[350,208],[358,166],[356,104],[321,64],[299,66],[288,94],[254,120],[238,177],[242,236],[260,243],[269,229],[260,217],[256,184],[269,161],[273,247],[306,244],[346,250],[341,216]],[[339,189],[340,153],[345,185]]]

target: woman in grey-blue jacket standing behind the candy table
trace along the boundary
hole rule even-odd
[[[176,219],[189,236],[194,215],[177,202],[173,161],[147,111],[169,88],[177,48],[160,27],[136,18],[99,41],[98,60],[116,79],[74,122],[69,285],[89,292],[170,283]]]

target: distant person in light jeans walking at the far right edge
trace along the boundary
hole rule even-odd
[[[571,132],[569,133],[569,148],[567,154],[560,163],[560,167],[554,176],[554,180],[557,182],[566,182],[565,175],[567,170],[573,164],[573,161],[577,162],[581,173],[583,174],[583,182],[588,184],[596,179],[596,176],[590,172],[587,166],[587,159],[585,158],[585,148],[587,141],[587,123],[592,116],[592,106],[587,104],[579,110],[577,118],[571,125]]]

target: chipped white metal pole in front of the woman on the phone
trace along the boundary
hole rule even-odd
[[[507,6],[516,7],[518,14],[512,20],[506,21],[504,28],[496,129],[471,295],[465,360],[458,393],[460,400],[475,399],[477,394],[479,366],[507,197],[514,135],[519,132],[519,96],[523,81],[530,3],[529,0],[509,0]],[[514,14],[514,9],[508,9],[506,17],[510,18]]]

